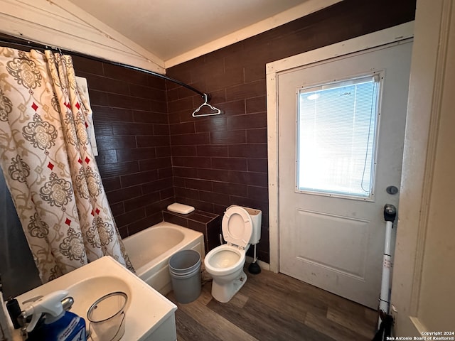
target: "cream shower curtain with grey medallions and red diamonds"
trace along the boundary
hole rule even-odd
[[[0,48],[0,164],[43,283],[109,255],[134,271],[68,55]]]

